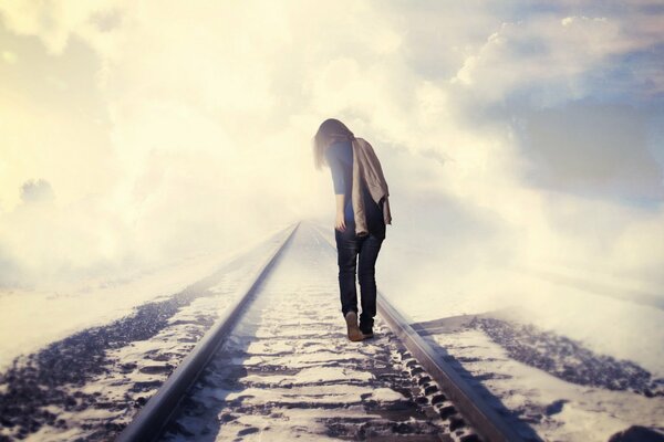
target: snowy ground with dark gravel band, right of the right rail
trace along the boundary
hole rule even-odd
[[[334,244],[332,222],[317,228]],[[481,264],[459,282],[443,269],[454,269],[446,262],[457,251],[435,255],[444,250],[435,236],[396,233],[387,227],[376,263],[381,294],[415,326],[461,315],[492,319],[429,328],[427,339],[546,440],[606,441],[634,424],[664,430],[664,309],[655,288],[616,275],[600,283],[601,275],[560,267],[540,277]],[[440,272],[425,273],[435,267],[427,260]]]

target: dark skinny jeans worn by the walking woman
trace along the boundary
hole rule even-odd
[[[345,231],[341,232],[334,229],[334,236],[339,263],[341,313],[344,317],[350,311],[357,313],[356,272],[362,295],[360,328],[363,332],[371,332],[376,316],[375,264],[384,238],[373,233],[356,236],[355,223],[352,220],[346,220]]]

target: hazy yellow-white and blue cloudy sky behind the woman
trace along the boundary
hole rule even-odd
[[[335,117],[383,164],[391,265],[662,295],[664,4],[624,3],[2,2],[0,287],[332,229]]]

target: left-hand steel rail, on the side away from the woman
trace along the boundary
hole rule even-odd
[[[287,239],[268,256],[257,273],[256,278],[248,283],[242,296],[229,306],[222,316],[198,341],[196,347],[178,365],[175,371],[159,387],[132,422],[116,438],[118,442],[149,442],[156,440],[179,408],[179,403],[196,382],[203,369],[219,348],[224,338],[236,325],[241,311],[250,303],[261,282],[270,273],[274,263],[293,238],[301,222],[297,222]]]

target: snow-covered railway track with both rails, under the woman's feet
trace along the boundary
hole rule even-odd
[[[117,440],[526,440],[380,292],[349,341],[335,256],[297,223]]]

